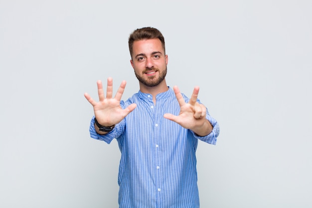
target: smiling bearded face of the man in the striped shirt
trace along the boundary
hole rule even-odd
[[[141,83],[154,87],[164,80],[168,57],[158,38],[134,41],[132,54],[131,65]]]

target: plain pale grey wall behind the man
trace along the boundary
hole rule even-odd
[[[89,136],[96,81],[139,90],[128,35],[165,36],[167,83],[220,123],[202,208],[311,208],[312,1],[0,0],[0,207],[114,208],[120,152]],[[116,91],[115,91],[116,92]]]

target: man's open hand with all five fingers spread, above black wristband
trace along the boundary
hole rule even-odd
[[[97,81],[99,102],[93,100],[88,93],[85,93],[85,98],[91,103],[94,109],[94,115],[102,126],[113,126],[122,121],[129,113],[131,113],[137,104],[133,103],[127,108],[122,109],[120,106],[121,97],[125,91],[126,81],[122,81],[115,97],[113,98],[113,79],[109,77],[107,79],[107,91],[106,98],[104,95],[104,90],[102,86],[102,81]],[[100,134],[105,134],[104,132],[99,132],[97,126],[96,131]]]

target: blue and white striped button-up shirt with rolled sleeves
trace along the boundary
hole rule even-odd
[[[182,94],[185,102],[189,99]],[[199,102],[199,100],[198,100]],[[139,91],[126,102],[137,107],[117,124],[113,131],[94,139],[108,144],[116,138],[121,151],[118,184],[120,208],[199,208],[195,151],[198,139],[215,145],[219,125],[210,117],[212,132],[199,137],[179,124],[163,118],[163,114],[178,115],[180,106],[171,88],[156,96]]]

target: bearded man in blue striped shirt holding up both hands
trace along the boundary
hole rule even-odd
[[[106,97],[97,82],[99,102],[85,93],[95,114],[91,137],[107,143],[116,138],[119,144],[120,208],[198,208],[198,139],[215,144],[219,125],[197,99],[199,87],[188,99],[166,85],[168,56],[159,30],[135,30],[129,50],[138,93],[122,101],[123,81],[113,97],[112,78]]]

